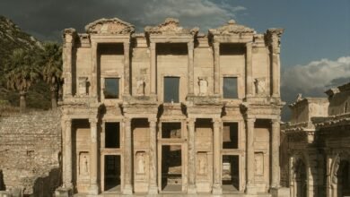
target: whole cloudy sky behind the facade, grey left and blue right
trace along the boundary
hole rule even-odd
[[[62,30],[118,17],[142,32],[167,17],[206,33],[230,19],[259,33],[284,28],[281,93],[325,97],[350,81],[350,0],[1,0],[0,14],[41,40],[61,41]],[[285,109],[284,109],[285,110]]]

